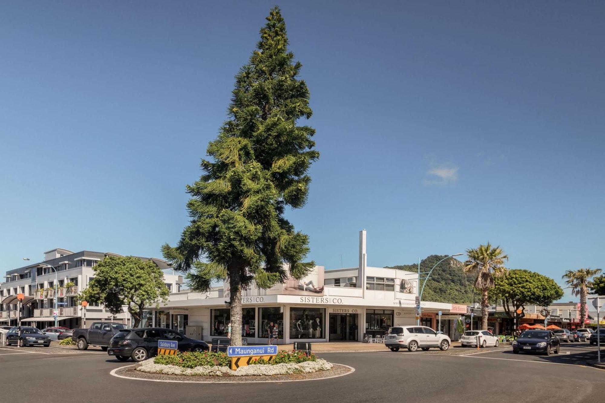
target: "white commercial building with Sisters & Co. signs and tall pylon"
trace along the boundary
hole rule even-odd
[[[376,338],[391,326],[416,324],[416,292],[416,272],[367,266],[364,230],[359,232],[359,267],[316,266],[302,280],[290,278],[271,289],[244,290],[240,331],[249,343],[266,343],[271,322],[278,326],[280,344]],[[146,325],[182,323],[191,327],[191,336],[207,341],[225,337],[231,318],[228,300],[227,284],[206,293],[172,293],[165,306],[149,308]],[[441,312],[446,333],[453,332],[450,321],[466,313],[466,306],[459,304],[422,301],[421,307],[422,324],[436,329]]]

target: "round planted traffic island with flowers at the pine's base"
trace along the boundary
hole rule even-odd
[[[112,375],[174,382],[284,382],[333,378],[354,371],[347,365],[332,364],[302,352],[282,351],[270,360],[239,361],[241,365],[234,367],[224,353],[178,353],[122,367]]]

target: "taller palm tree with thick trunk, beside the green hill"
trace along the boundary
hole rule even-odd
[[[464,271],[477,274],[475,288],[483,293],[481,298],[481,327],[483,330],[488,330],[488,290],[494,288],[494,277],[506,273],[504,261],[508,260],[508,255],[500,249],[500,246],[494,247],[489,242],[486,245],[479,245],[477,249],[467,249],[466,255],[468,259],[464,263]]]

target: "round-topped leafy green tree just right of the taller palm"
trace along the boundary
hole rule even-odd
[[[563,289],[554,280],[529,270],[514,269],[494,278],[494,288],[489,297],[504,301],[504,310],[509,318],[518,320],[525,316],[525,306],[537,304],[547,307],[563,297]],[[517,310],[522,313],[518,314]]]

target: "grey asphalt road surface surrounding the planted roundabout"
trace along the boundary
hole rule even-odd
[[[325,353],[355,367],[351,375],[305,382],[183,384],[116,378],[125,365],[99,351],[0,348],[3,396],[19,402],[597,402],[605,371],[582,365],[595,347],[563,344],[561,355],[514,355],[500,349]],[[603,351],[605,356],[605,351]],[[126,365],[132,362],[126,363]],[[8,394],[7,394],[8,393]]]

